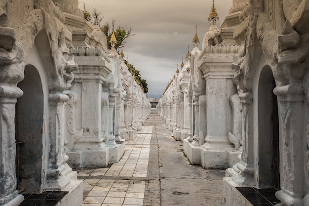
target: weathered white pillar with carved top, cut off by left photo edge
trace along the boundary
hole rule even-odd
[[[15,30],[8,27],[0,7],[0,205],[19,205],[24,197],[16,190],[15,104],[23,91],[16,84],[24,78],[23,49]]]

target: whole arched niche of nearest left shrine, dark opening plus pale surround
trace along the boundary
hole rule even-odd
[[[41,30],[25,62],[25,78],[17,84],[23,90],[16,106],[16,176],[21,193],[37,193],[44,188],[48,166],[48,92],[54,63],[45,30]],[[24,124],[27,123],[27,124]]]

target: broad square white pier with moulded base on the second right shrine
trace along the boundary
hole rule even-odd
[[[218,53],[212,53],[201,60],[201,71],[206,81],[206,134],[205,143],[201,149],[201,165],[204,168],[225,169],[234,161],[229,161],[230,153],[234,145],[228,140],[228,133],[232,130],[232,107],[229,103],[231,95],[236,93],[233,85],[233,71],[230,66],[231,54],[222,54],[221,49],[226,46],[218,46]],[[216,47],[215,46],[215,47]],[[205,47],[204,50],[207,50]],[[235,47],[236,49],[236,47]],[[204,51],[203,51],[204,52]],[[203,107],[201,107],[203,108]],[[201,124],[201,123],[200,123]],[[230,163],[229,163],[230,162]]]

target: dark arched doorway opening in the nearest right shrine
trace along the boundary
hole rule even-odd
[[[258,186],[280,189],[279,123],[276,86],[272,71],[265,66],[258,87]]]

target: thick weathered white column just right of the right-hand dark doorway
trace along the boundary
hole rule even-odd
[[[291,68],[291,70],[296,70]],[[285,206],[303,206],[305,179],[302,169],[305,164],[304,123],[305,96],[303,85],[292,81],[288,85],[277,86],[274,94],[279,101],[280,128],[280,186],[276,197]]]

